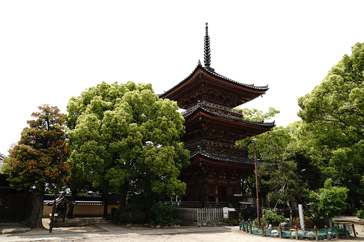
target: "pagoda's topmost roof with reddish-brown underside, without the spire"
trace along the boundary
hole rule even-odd
[[[160,98],[168,98],[177,101],[181,108],[188,108],[186,105],[182,104],[183,102],[181,100],[183,97],[188,96],[189,99],[193,99],[198,94],[203,95],[206,92],[202,91],[202,89],[205,90],[206,88],[212,87],[214,90],[223,91],[224,94],[230,95],[229,98],[234,96],[236,100],[233,100],[231,104],[225,103],[225,105],[235,107],[261,96],[269,89],[268,86],[254,86],[254,84],[240,83],[212,70],[212,68],[202,67],[202,65],[198,64],[189,76],[158,96]],[[216,94],[216,96],[217,95],[218,94]],[[213,95],[211,98],[214,98]],[[210,101],[213,102],[213,100]],[[217,99],[214,99],[214,101],[214,103],[222,104],[221,101],[219,103],[219,100]],[[193,102],[196,103],[197,100],[191,100],[191,103]]]

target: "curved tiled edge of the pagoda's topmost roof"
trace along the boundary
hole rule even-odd
[[[178,83],[177,85],[175,85],[174,87],[172,87],[168,91],[165,91],[162,94],[158,94],[158,97],[159,98],[169,98],[169,99],[172,100],[173,98],[170,98],[170,94],[173,93],[173,92],[175,92],[175,91],[177,91],[182,86],[184,86],[189,80],[191,80],[191,78],[193,76],[196,75],[196,73],[199,70],[201,70],[202,72],[204,72],[208,76],[215,77],[216,79],[218,79],[218,80],[220,80],[222,82],[225,82],[227,84],[230,84],[230,85],[232,85],[232,86],[234,86],[236,88],[243,88],[243,89],[247,89],[249,91],[257,91],[257,92],[261,92],[261,94],[263,94],[265,91],[267,91],[269,89],[268,88],[268,85],[262,86],[262,87],[258,87],[258,86],[254,86],[254,85],[244,84],[244,83],[237,82],[237,81],[234,81],[232,79],[229,79],[229,78],[227,78],[225,76],[221,76],[221,75],[219,75],[219,74],[217,74],[215,72],[209,71],[206,68],[202,67],[201,65],[197,65],[196,68],[193,70],[193,72],[189,76],[187,76],[186,78],[184,78],[180,83]]]

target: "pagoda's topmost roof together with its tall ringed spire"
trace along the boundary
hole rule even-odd
[[[208,26],[204,37],[204,64],[199,61],[193,72],[173,88],[158,96],[177,101],[180,108],[188,109],[198,101],[208,101],[217,105],[236,107],[253,100],[268,90],[268,86],[244,84],[215,72],[211,68],[211,48]]]

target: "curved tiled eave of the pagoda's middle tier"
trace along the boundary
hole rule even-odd
[[[188,117],[191,117],[194,114],[196,115],[199,111],[204,112],[206,115],[209,115],[211,118],[219,119],[221,121],[230,120],[230,121],[234,121],[234,122],[249,124],[249,125],[252,125],[255,127],[264,127],[264,128],[273,128],[274,126],[276,126],[275,121],[273,121],[273,122],[249,121],[249,120],[239,119],[236,117],[232,117],[232,116],[228,116],[228,115],[224,115],[224,114],[220,114],[220,113],[215,113],[215,112],[212,112],[203,107],[196,107],[196,109],[183,115],[184,120],[186,120]]]

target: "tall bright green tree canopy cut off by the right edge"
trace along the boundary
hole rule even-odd
[[[298,116],[315,131],[318,144],[337,150],[364,139],[364,43],[356,43],[352,55],[334,65],[298,105]]]

